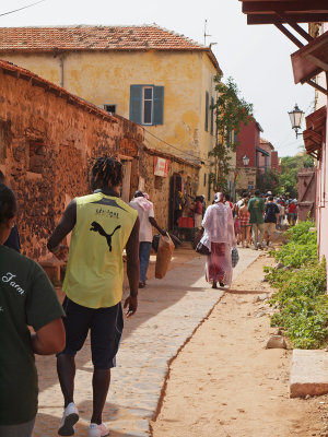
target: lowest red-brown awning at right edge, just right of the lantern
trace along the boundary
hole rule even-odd
[[[327,107],[323,106],[305,118],[306,130],[303,140],[306,153],[317,160],[321,156],[321,147],[326,135]]]

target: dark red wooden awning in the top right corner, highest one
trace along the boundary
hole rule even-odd
[[[313,23],[328,21],[327,0],[239,0],[247,24]]]

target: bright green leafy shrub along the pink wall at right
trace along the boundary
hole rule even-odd
[[[294,347],[318,349],[328,339],[328,296],[326,260],[317,259],[316,233],[312,222],[303,222],[288,232],[289,243],[276,259],[290,270],[266,268],[267,279],[278,288],[270,304],[278,312],[271,326],[281,327]]]

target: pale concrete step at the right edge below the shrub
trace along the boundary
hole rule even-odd
[[[294,350],[290,397],[304,398],[328,393],[328,352]]]

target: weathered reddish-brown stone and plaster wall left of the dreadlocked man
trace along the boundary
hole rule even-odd
[[[121,153],[138,158],[143,129],[97,109],[96,115],[70,103],[66,93],[59,96],[2,69],[0,103],[0,165],[17,194],[23,252],[42,260],[68,199],[90,191],[91,157]]]

